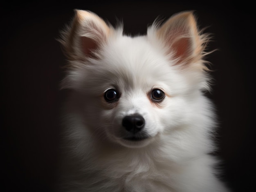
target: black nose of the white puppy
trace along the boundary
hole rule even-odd
[[[128,115],[125,116],[122,125],[126,130],[136,133],[139,132],[145,125],[145,120],[141,115]]]

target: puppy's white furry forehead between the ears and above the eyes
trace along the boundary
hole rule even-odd
[[[108,81],[133,86],[155,84],[170,77],[171,64],[159,55],[146,37],[122,37],[114,40],[103,51],[101,68]]]

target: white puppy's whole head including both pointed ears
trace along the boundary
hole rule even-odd
[[[89,11],[76,11],[61,40],[69,65],[62,87],[79,95],[79,114],[97,139],[142,147],[191,124],[207,89],[208,41],[192,12],[128,37]],[[202,112],[200,112],[202,113]]]

